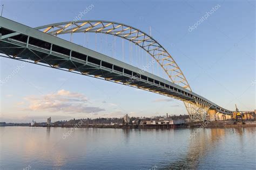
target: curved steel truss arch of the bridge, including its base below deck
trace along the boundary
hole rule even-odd
[[[79,20],[76,22],[63,22],[39,26],[35,29],[53,36],[69,33],[93,32],[110,34],[126,39],[143,48],[148,54],[150,54],[152,58],[158,62],[161,68],[164,69],[164,72],[167,74],[171,82],[192,91],[183,72],[177,65],[176,61],[174,61],[171,54],[167,52],[158,41],[149,36],[149,34],[146,34],[135,27],[104,20]],[[184,104],[192,121],[205,120],[206,110],[209,109],[208,106],[200,104],[200,102],[194,104],[184,101]]]

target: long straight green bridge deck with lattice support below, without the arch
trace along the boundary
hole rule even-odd
[[[3,20],[0,26],[0,53],[7,58],[93,76],[177,98],[184,101],[188,112],[192,113],[192,120],[204,121],[208,109],[232,114],[232,111],[223,109],[190,90],[109,56],[10,20]]]

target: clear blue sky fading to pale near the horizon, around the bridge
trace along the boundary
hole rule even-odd
[[[256,108],[255,1],[2,0],[0,4],[3,17],[30,27],[72,21],[91,5],[81,20],[109,20],[151,33],[173,56],[195,93],[229,110],[235,110],[234,104],[239,110]],[[202,18],[207,12],[208,17]],[[135,52],[139,49],[133,48],[131,57],[127,42],[125,49],[120,48],[121,39],[113,46],[112,37],[105,42],[98,35],[86,36],[77,34],[72,41],[120,60],[124,50],[123,60],[138,67],[149,60],[145,54],[139,63]],[[149,91],[3,57],[0,66],[1,81],[11,75],[0,87],[1,122],[187,114],[183,102]],[[11,74],[17,67],[18,73]],[[149,72],[166,78],[158,66]]]

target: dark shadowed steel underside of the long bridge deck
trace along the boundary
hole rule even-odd
[[[42,45],[39,42],[35,43],[39,46]],[[19,42],[15,39],[0,41],[0,52],[7,55],[7,58],[33,62],[38,65],[93,76],[99,79],[122,83],[127,86],[133,86],[177,98],[181,101],[194,103],[193,95],[187,94],[185,91],[181,91],[169,84],[144,76],[143,70],[141,73],[135,73],[132,72],[132,70],[124,69],[90,56],[79,54],[76,58],[73,56],[70,57],[54,51],[47,51],[30,44],[26,47],[25,42]],[[72,52],[72,55],[76,55],[75,52]]]

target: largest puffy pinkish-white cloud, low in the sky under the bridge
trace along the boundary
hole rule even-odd
[[[76,114],[105,110],[99,107],[87,105],[89,102],[85,95],[72,93],[66,90],[59,90],[56,94],[28,96],[25,97],[25,100],[29,103],[28,110],[33,111],[65,112]]]

